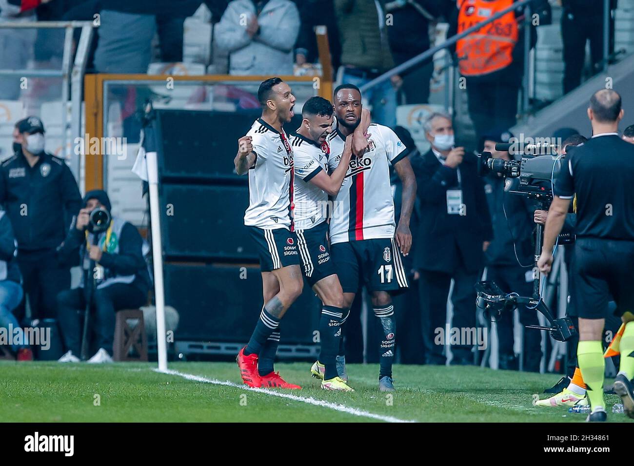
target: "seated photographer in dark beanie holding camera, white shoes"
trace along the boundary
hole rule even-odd
[[[68,232],[60,250],[60,256],[65,261],[71,265],[82,264],[84,269],[79,288],[57,295],[61,333],[67,349],[67,353],[59,359],[63,363],[79,361],[81,320],[78,311],[86,308],[86,295],[92,296],[94,324],[91,327],[96,333],[99,348],[88,362],[108,363],[112,362],[115,312],[143,306],[150,289],[150,275],[142,251],[143,239],[138,230],[133,224],[112,217],[107,231],[98,233],[95,245],[91,233],[94,223],[90,216],[95,209],[110,212],[110,199],[105,191],[86,193],[84,208],[79,210],[75,226]],[[95,268],[89,270],[91,259]],[[92,276],[95,277],[95,288],[87,293],[86,288],[92,282],[87,278]]]

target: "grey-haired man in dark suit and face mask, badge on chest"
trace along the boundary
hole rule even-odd
[[[411,160],[417,178],[421,219],[415,252],[420,271],[420,301],[426,362],[444,365],[440,335],[446,330],[446,302],[451,279],[453,323],[461,335],[475,328],[475,283],[484,264],[484,251],[493,238],[484,183],[477,175],[474,155],[454,146],[451,117],[432,113],[425,121],[431,149]],[[442,329],[438,330],[438,329]],[[474,363],[475,342],[451,342],[452,364]]]

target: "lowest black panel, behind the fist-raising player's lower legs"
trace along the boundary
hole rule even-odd
[[[165,264],[165,304],[179,313],[176,340],[246,343],[262,309],[257,267]],[[281,344],[315,344],[320,301],[305,283],[281,325]]]

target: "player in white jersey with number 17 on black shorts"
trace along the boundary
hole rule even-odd
[[[328,166],[332,170],[341,162],[344,140],[361,121],[361,91],[353,84],[342,84],[335,89],[334,104],[337,129],[328,137]],[[416,198],[416,179],[407,158],[410,151],[394,131],[371,124],[368,133],[371,134],[368,150],[350,161],[346,178],[335,196],[330,243],[344,291],[344,307],[352,305],[356,292],[364,285],[372,297],[374,314],[382,329],[378,388],[394,391],[396,319],[391,295],[409,286],[401,254],[406,256],[410,252],[410,216]],[[398,226],[394,222],[389,165],[403,183]]]

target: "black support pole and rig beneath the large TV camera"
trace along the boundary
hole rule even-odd
[[[550,201],[552,200],[552,197],[550,197],[550,195],[541,188],[537,188],[534,193],[527,193],[526,191],[510,191],[510,193],[522,194],[524,196],[528,195],[529,198],[537,201],[537,208],[540,210],[547,210],[550,206]],[[542,245],[543,226],[541,224],[537,224],[537,228],[535,229],[533,294],[531,296],[520,296],[517,293],[504,293],[495,282],[478,282],[475,285],[477,306],[494,315],[498,315],[505,311],[512,311],[512,309],[519,306],[526,306],[527,309],[535,309],[547,319],[550,327],[543,325],[527,325],[526,328],[548,330],[553,339],[563,342],[573,338],[577,334],[577,331],[570,318],[563,317],[555,319],[541,297],[541,273],[537,268],[537,261],[540,258]]]

